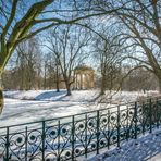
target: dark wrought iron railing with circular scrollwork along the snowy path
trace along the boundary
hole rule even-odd
[[[0,160],[66,161],[152,132],[161,124],[161,99],[54,120],[0,127]]]

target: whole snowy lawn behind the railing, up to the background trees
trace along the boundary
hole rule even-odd
[[[4,91],[5,104],[0,115],[0,127],[94,111],[116,106],[114,103],[135,101],[139,96],[149,95],[123,91],[113,96],[113,104],[98,104],[94,101],[98,94],[97,90],[75,90],[72,96],[65,96],[65,90]]]

